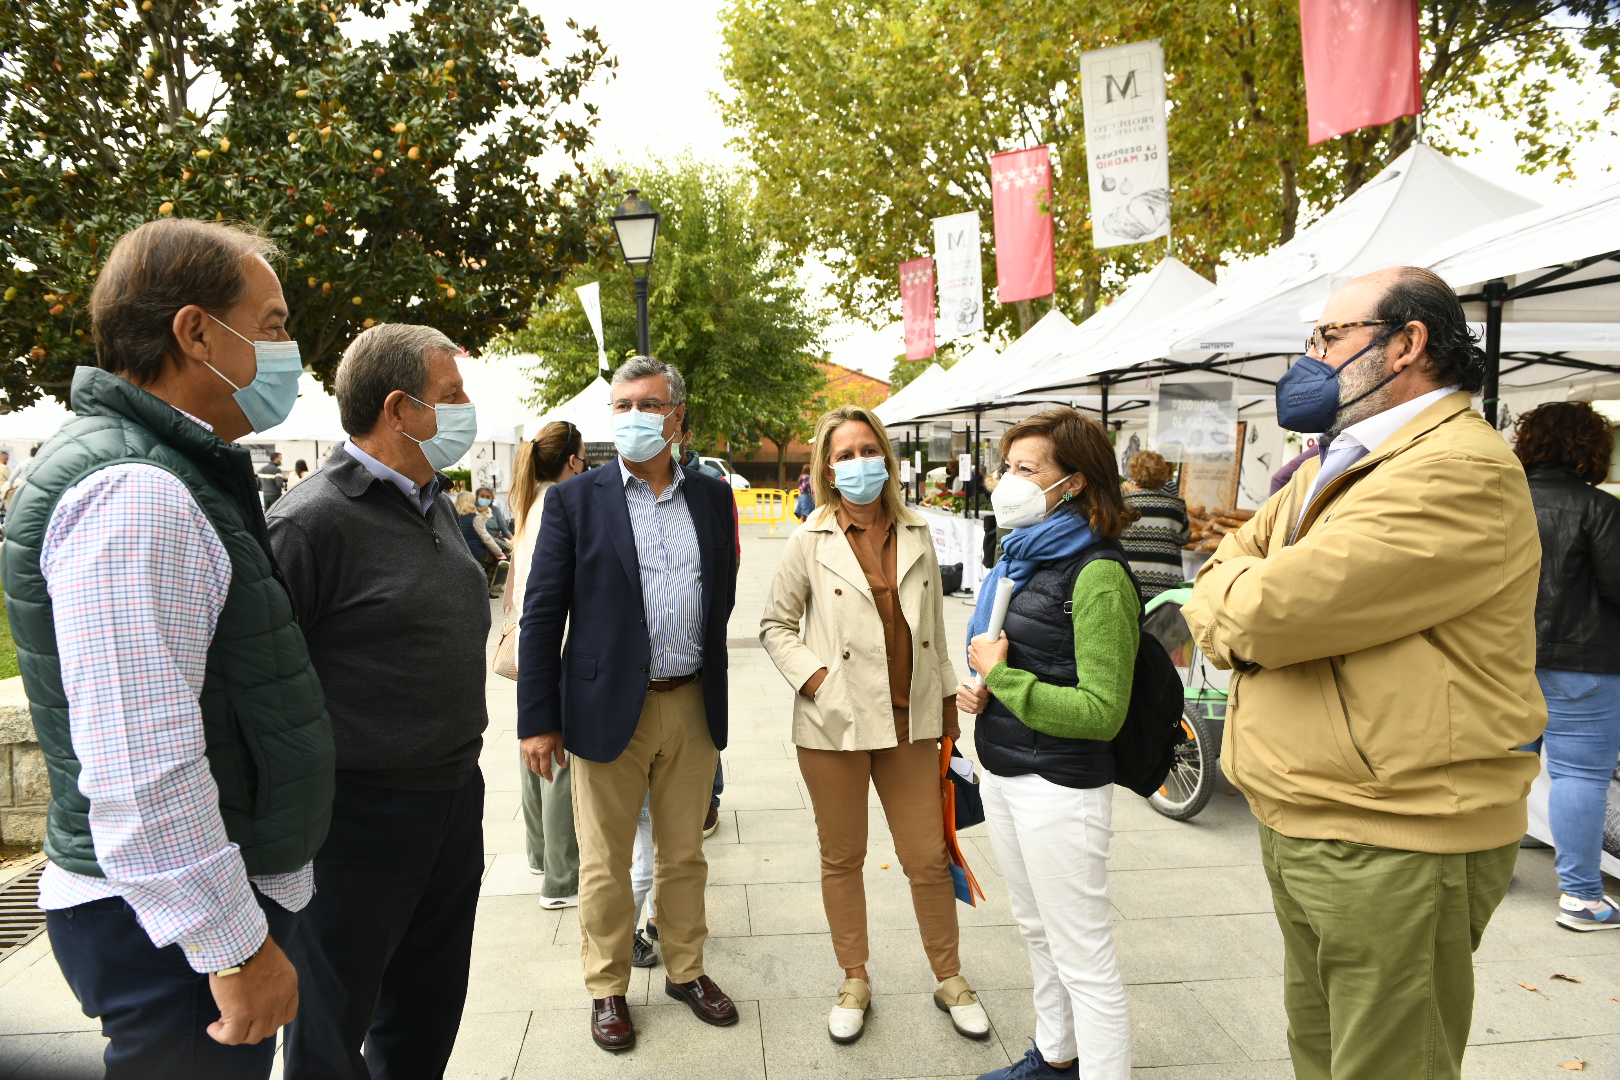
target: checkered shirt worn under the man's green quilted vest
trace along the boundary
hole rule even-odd
[[[55,610],[62,688],[105,878],[55,863],[39,907],[123,897],[159,949],[198,972],[264,944],[264,912],[225,837],[198,695],[230,588],[230,555],[186,486],[151,465],[110,465],[70,487],[39,552]],[[254,878],[292,912],[314,868]]]

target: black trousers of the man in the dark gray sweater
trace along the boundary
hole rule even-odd
[[[296,949],[287,1080],[436,1080],[467,1004],[484,777],[452,792],[337,782]]]

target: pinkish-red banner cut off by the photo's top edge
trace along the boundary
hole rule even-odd
[[[1422,112],[1418,0],[1299,0],[1307,139]]]

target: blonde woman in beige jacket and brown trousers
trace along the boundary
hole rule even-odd
[[[956,1030],[990,1018],[957,957],[956,895],[940,811],[940,737],[956,737],[940,562],[928,525],[906,508],[894,447],[870,411],[821,418],[810,483],[816,510],[789,539],[760,641],[794,699],[794,745],[821,844],[821,900],[844,984],[828,1035],[852,1043],[872,1004],[867,973],[867,792],[878,789],[923,949],[935,1004]]]

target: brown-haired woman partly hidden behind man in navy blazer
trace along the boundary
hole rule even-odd
[[[535,541],[539,539],[539,515],[552,484],[585,471],[585,437],[569,421],[556,421],[539,429],[518,447],[512,463],[512,588],[502,607],[505,625],[517,635],[523,615],[523,593]],[[512,641],[517,656],[517,641]],[[523,842],[528,848],[528,873],[544,874],[539,887],[543,908],[578,907],[580,844],[573,834],[573,784],[567,766],[544,780],[531,772],[518,755],[518,790],[523,801]]]

